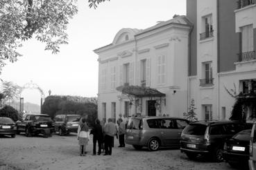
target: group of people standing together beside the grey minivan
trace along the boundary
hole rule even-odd
[[[83,117],[78,126],[78,144],[80,146],[80,156],[86,155],[86,147],[89,142],[89,135],[93,135],[93,153],[96,155],[96,143],[98,143],[98,155],[101,155],[101,150],[105,151],[104,155],[112,154],[112,147],[114,147],[114,137],[119,138],[119,147],[125,147],[124,136],[126,133],[128,118],[119,115],[117,120],[118,128],[112,119],[109,118],[108,122],[100,122],[95,120],[95,124],[92,130],[89,132],[89,126],[87,125],[86,118]]]

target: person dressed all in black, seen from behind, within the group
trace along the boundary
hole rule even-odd
[[[92,135],[94,135],[93,138],[93,144],[94,144],[94,149],[93,149],[93,155],[96,155],[96,142],[98,141],[98,155],[101,155],[101,143],[103,142],[103,131],[101,127],[101,122],[97,119],[95,120],[95,125],[91,131]]]

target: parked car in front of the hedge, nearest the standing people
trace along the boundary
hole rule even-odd
[[[66,135],[71,132],[77,133],[80,117],[80,115],[56,115],[54,118],[55,131],[59,135]]]

